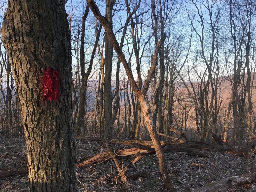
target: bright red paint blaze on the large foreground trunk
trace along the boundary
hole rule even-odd
[[[58,101],[60,99],[60,80],[58,71],[47,68],[43,72],[43,100]]]

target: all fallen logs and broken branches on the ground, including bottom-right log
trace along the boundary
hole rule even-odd
[[[251,145],[237,148],[237,147],[228,145],[227,143],[221,142],[221,140],[217,138],[215,135],[213,135],[214,136],[213,138],[217,139],[216,142],[218,144],[208,144],[208,143],[198,142],[198,141],[189,141],[185,135],[179,132],[177,133],[181,135],[186,140],[186,142],[179,138],[174,138],[172,136],[166,136],[164,134],[159,133],[159,135],[170,138],[169,140],[161,142],[161,146],[163,147],[164,153],[187,152],[187,154],[191,156],[207,157],[207,153],[205,153],[205,151],[228,152],[233,155],[244,156],[251,160],[252,172],[248,173],[247,175],[244,175],[243,177],[233,176],[233,177],[225,178],[219,182],[211,183],[204,187],[198,188],[196,189],[197,192],[228,191],[229,189],[232,189],[235,186],[242,186],[244,184],[250,184],[251,182],[256,181],[256,173],[253,172],[256,170],[256,163],[254,158],[255,150],[254,151],[252,150],[253,146],[255,148],[255,144],[252,143]],[[131,168],[133,164],[138,162],[143,157],[155,154],[155,149],[151,141],[138,141],[138,140],[124,141],[124,140],[114,140],[114,139],[106,140],[104,138],[92,138],[92,137],[78,137],[77,139],[89,140],[89,141],[101,141],[101,142],[112,143],[112,144],[128,145],[132,147],[132,148],[127,148],[122,150],[116,150],[114,152],[108,147],[108,151],[102,152],[90,159],[87,159],[77,164],[77,167],[81,168],[84,166],[100,164],[105,161],[108,161],[109,159],[114,159],[115,164],[118,167],[119,174],[122,176],[122,180],[125,183],[125,186],[127,187],[127,189],[129,189],[129,185],[128,185],[126,176],[124,175],[125,172],[129,168]],[[131,156],[135,156],[134,159],[126,167],[121,168],[118,163],[118,159],[126,159]]]

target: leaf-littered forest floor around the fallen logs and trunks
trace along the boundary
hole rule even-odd
[[[124,149],[127,146],[110,145],[113,149]],[[76,158],[94,156],[105,151],[106,146],[100,142],[76,140]],[[24,139],[0,138],[0,172],[8,169],[26,169],[27,155]],[[248,173],[248,160],[229,153],[208,153],[207,158],[192,157],[186,153],[168,153],[166,159],[172,181],[173,191],[194,191],[196,188],[212,182],[220,181],[229,176],[242,176]],[[126,166],[130,159],[120,160]],[[132,175],[138,175],[131,178]],[[126,191],[113,161],[108,161],[92,167],[77,169],[77,188],[79,192],[123,192]],[[160,192],[162,188],[156,155],[144,157],[126,172],[132,191]],[[0,180],[2,192],[29,191],[28,176],[12,176]],[[230,191],[252,192],[256,185],[244,185],[240,188],[230,188]]]

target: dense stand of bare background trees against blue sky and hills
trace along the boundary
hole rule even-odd
[[[166,34],[146,93],[157,132],[172,135],[172,126],[192,140],[211,141],[212,133],[224,142],[252,139],[255,2],[96,4],[112,24],[140,90],[157,42]],[[84,1],[67,2],[66,12],[76,136],[148,140],[138,95],[99,20]],[[12,67],[2,41],[0,45],[1,133],[22,135]]]

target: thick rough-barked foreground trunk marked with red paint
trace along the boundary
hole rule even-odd
[[[71,44],[63,1],[10,0],[1,32],[20,100],[30,191],[76,191]]]

